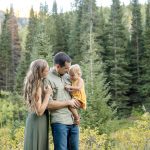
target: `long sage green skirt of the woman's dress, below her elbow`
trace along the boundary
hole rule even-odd
[[[26,119],[24,150],[49,150],[49,116],[46,110],[42,116],[30,112]]]

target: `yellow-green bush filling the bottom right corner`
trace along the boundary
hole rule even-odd
[[[134,127],[121,129],[113,133],[111,138],[119,149],[149,150],[150,149],[150,115],[144,114],[136,120]]]

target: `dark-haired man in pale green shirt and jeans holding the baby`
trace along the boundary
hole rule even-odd
[[[70,94],[65,90],[69,84],[68,71],[71,66],[71,58],[59,52],[54,57],[54,67],[50,70],[47,78],[53,89],[53,97],[49,102],[48,109],[51,110],[51,127],[55,150],[78,150],[79,128],[74,124],[72,114],[68,109],[68,101],[72,106],[80,107],[80,104],[71,100]],[[67,104],[66,104],[67,103]]]

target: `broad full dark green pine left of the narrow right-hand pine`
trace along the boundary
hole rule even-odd
[[[107,25],[107,43],[103,52],[103,60],[106,64],[107,82],[110,83],[112,99],[109,101],[117,109],[119,115],[129,113],[129,72],[125,58],[127,37],[122,22],[122,8],[119,0],[113,0],[109,23]]]

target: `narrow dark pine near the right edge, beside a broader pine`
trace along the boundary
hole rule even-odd
[[[143,101],[140,91],[144,54],[142,30],[140,5],[138,0],[132,0],[131,42],[127,56],[129,58],[129,71],[131,73],[130,105],[133,107],[141,105]]]

